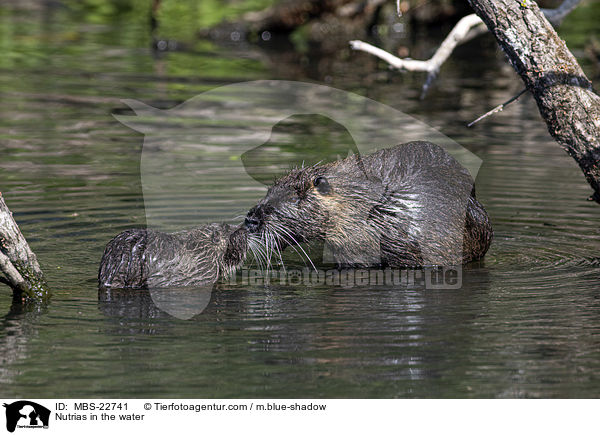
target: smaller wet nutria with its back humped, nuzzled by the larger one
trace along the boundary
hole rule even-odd
[[[106,245],[98,282],[113,288],[213,284],[242,264],[247,244],[246,229],[227,224],[172,234],[127,230]]]

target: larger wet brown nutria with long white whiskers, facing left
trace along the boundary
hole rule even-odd
[[[469,172],[420,141],[293,169],[245,225],[271,249],[323,241],[340,266],[457,265],[482,258],[493,235]]]

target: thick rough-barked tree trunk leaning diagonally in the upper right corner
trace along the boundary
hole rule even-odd
[[[600,203],[600,97],[535,3],[469,0],[534,96],[554,139],[579,164]]]

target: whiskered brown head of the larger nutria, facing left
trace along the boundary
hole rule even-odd
[[[381,183],[371,182],[360,157],[292,169],[269,188],[247,214],[245,227],[264,246],[283,249],[325,241],[336,261],[362,263],[365,244],[376,246],[369,263],[379,263],[376,231],[368,224],[378,205]],[[358,254],[351,254],[355,251]]]

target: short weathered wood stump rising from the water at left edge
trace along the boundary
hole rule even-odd
[[[37,258],[13,219],[0,193],[0,271],[15,296],[46,299],[50,292]]]

